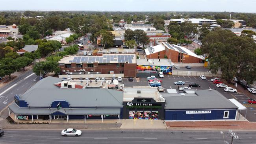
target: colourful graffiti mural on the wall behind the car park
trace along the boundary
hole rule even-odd
[[[163,72],[163,74],[173,74],[173,66],[143,66],[143,65],[137,65],[137,70],[153,70],[153,71],[159,71]]]

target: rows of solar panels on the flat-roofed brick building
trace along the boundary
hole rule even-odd
[[[69,63],[132,63],[134,55],[103,55],[101,57],[74,57]]]

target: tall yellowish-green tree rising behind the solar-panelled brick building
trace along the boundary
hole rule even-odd
[[[96,33],[96,36],[100,38],[100,43],[104,49],[106,46],[110,47],[114,44],[114,35],[110,31],[100,30]]]

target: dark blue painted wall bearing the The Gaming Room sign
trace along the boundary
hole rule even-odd
[[[193,109],[189,111],[204,111],[208,109]],[[210,110],[210,114],[186,114],[186,110],[165,110],[165,120],[230,120],[236,118],[236,109]],[[229,111],[228,118],[223,118],[224,111]]]

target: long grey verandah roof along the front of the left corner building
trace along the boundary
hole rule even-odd
[[[103,109],[103,108],[93,108],[93,109],[37,109],[37,108],[30,108],[30,109],[23,109],[20,108],[15,103],[9,106],[9,109],[15,114],[42,114],[42,115],[49,115],[55,113],[57,111],[69,114],[69,115],[84,115],[84,114],[120,114],[120,109],[110,108],[110,109]]]

